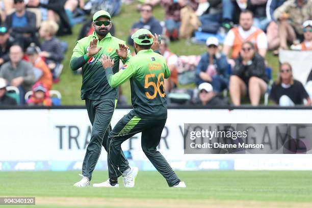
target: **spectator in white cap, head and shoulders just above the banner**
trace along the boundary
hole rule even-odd
[[[229,105],[226,98],[217,96],[209,83],[201,83],[198,86],[198,91],[198,99],[194,102],[197,106],[222,107]]]

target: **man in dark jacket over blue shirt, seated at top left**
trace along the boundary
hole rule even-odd
[[[27,11],[23,0],[14,0],[15,12],[6,18],[6,27],[15,44],[26,49],[32,42],[39,44],[36,37],[36,15]]]

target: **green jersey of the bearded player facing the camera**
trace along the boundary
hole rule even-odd
[[[118,98],[118,89],[111,88],[106,79],[106,73],[102,67],[101,56],[106,54],[115,59],[113,72],[116,73],[119,70],[119,56],[116,53],[116,49],[119,49],[119,44],[125,44],[125,41],[113,37],[110,33],[105,38],[97,42],[97,47],[102,49],[93,57],[88,59],[86,54],[88,53],[90,41],[97,38],[96,33],[85,37],[76,42],[73,49],[73,54],[70,59],[70,68],[77,70],[82,67],[82,87],[81,98],[98,100],[103,98]],[[128,50],[128,56],[126,60],[122,60],[125,63],[130,55]]]

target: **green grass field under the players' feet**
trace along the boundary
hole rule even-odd
[[[168,188],[154,171],[139,172],[132,189],[121,180],[119,188],[75,188],[77,174],[0,172],[0,196],[34,196],[34,207],[312,207],[310,171],[179,171],[186,189]],[[95,171],[91,183],[107,175]]]

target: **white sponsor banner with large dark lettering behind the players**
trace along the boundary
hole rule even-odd
[[[117,109],[112,126],[130,110]],[[252,154],[185,154],[185,123],[309,123],[311,110],[168,110],[168,119],[158,150],[176,169],[199,170],[205,167],[223,167],[220,161],[235,159],[263,159],[266,155]],[[75,170],[81,167],[86,147],[90,141],[92,126],[84,109],[62,110],[0,110],[0,169],[25,165],[24,169]],[[124,151],[145,170],[154,170],[141,148],[141,134],[122,144]],[[287,155],[287,154],[285,154]],[[270,159],[278,154],[268,155]],[[283,156],[284,157],[284,156]],[[291,155],[291,159],[312,160],[311,154]],[[57,161],[57,162],[54,162]],[[107,153],[102,148],[99,167],[105,169]],[[197,162],[196,162],[197,161]],[[200,164],[198,161],[201,161]],[[205,162],[206,161],[206,162]],[[212,162],[210,162],[212,161]],[[219,162],[216,162],[219,161]],[[29,164],[27,162],[30,162]],[[32,162],[35,162],[33,164]],[[202,163],[205,162],[205,163]],[[15,164],[16,163],[16,164]],[[46,165],[46,163],[48,165]],[[13,166],[12,166],[13,164]],[[15,165],[14,165],[15,164]],[[102,164],[102,165],[101,165]],[[12,168],[12,167],[13,168]],[[39,164],[39,167],[42,167]],[[230,165],[228,165],[231,167]],[[234,166],[234,165],[233,165]],[[5,168],[4,168],[5,167]],[[70,168],[69,168],[70,167]],[[75,168],[74,168],[75,167]],[[179,168],[182,167],[182,168]],[[9,168],[7,168],[9,169]],[[21,168],[20,168],[21,169]],[[302,169],[305,167],[302,166]]]

